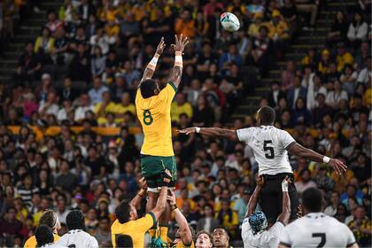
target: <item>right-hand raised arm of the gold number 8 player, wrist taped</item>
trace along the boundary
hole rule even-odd
[[[175,44],[172,44],[175,52],[174,66],[169,74],[168,81],[172,81],[174,83],[174,86],[178,88],[182,78],[182,52],[185,46],[189,43],[189,40],[187,37],[183,37],[183,35],[180,35],[180,38],[178,38],[177,35],[174,35],[174,38]]]

